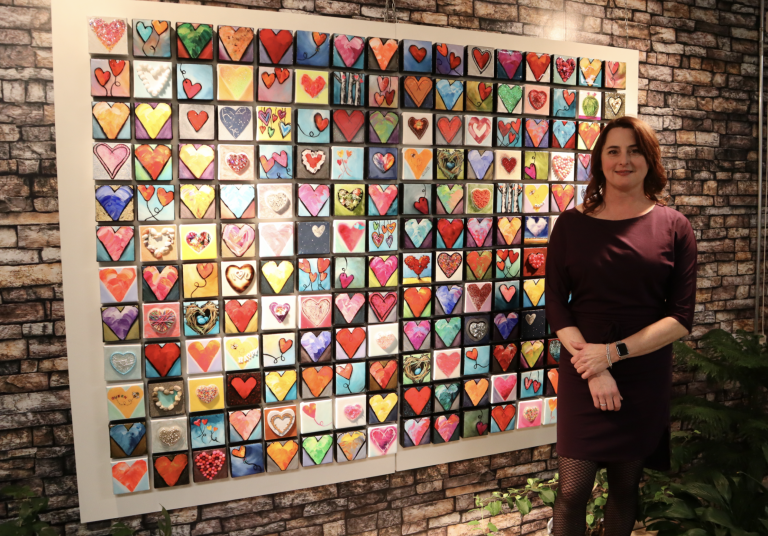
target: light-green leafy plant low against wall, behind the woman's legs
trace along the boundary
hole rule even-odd
[[[506,502],[509,505],[510,510],[517,507],[521,515],[527,515],[533,507],[531,499],[529,498],[531,493],[535,493],[541,499],[544,506],[551,508],[555,507],[555,500],[557,499],[557,489],[559,485],[559,474],[555,474],[555,477],[546,482],[542,482],[539,478],[529,478],[524,488],[509,488],[507,492],[494,491],[490,497],[483,499],[479,495],[475,496],[475,506],[477,508],[470,510],[471,512],[482,512],[482,517],[479,520],[468,521],[467,525],[471,527],[477,527],[479,529],[485,529],[483,534],[496,534],[498,532],[497,527],[488,520],[488,523],[483,526],[483,522],[486,517],[486,513],[489,517],[497,516],[501,513],[501,509]],[[589,531],[590,534],[599,534],[602,530],[603,509],[608,499],[608,481],[606,478],[606,470],[601,469],[595,476],[595,484],[592,488],[592,496],[587,503],[586,518],[585,518],[585,531]]]

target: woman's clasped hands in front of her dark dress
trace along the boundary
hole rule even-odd
[[[571,341],[576,353],[571,357],[576,372],[589,382],[592,402],[597,409],[618,411],[623,397],[616,386],[616,380],[608,372],[608,359],[604,344],[589,344]]]

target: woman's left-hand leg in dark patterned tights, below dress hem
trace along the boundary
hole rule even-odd
[[[555,501],[555,536],[584,536],[587,528],[587,501],[592,494],[597,462],[558,459],[560,487]]]

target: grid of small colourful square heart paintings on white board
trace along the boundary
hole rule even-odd
[[[624,63],[87,31],[116,494],[556,421],[547,237],[624,113]]]

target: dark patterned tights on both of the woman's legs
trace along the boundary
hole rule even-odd
[[[555,501],[555,536],[584,536],[587,502],[597,474],[597,462],[559,458],[560,489]],[[635,525],[637,490],[643,461],[608,464],[605,536],[628,536]]]

